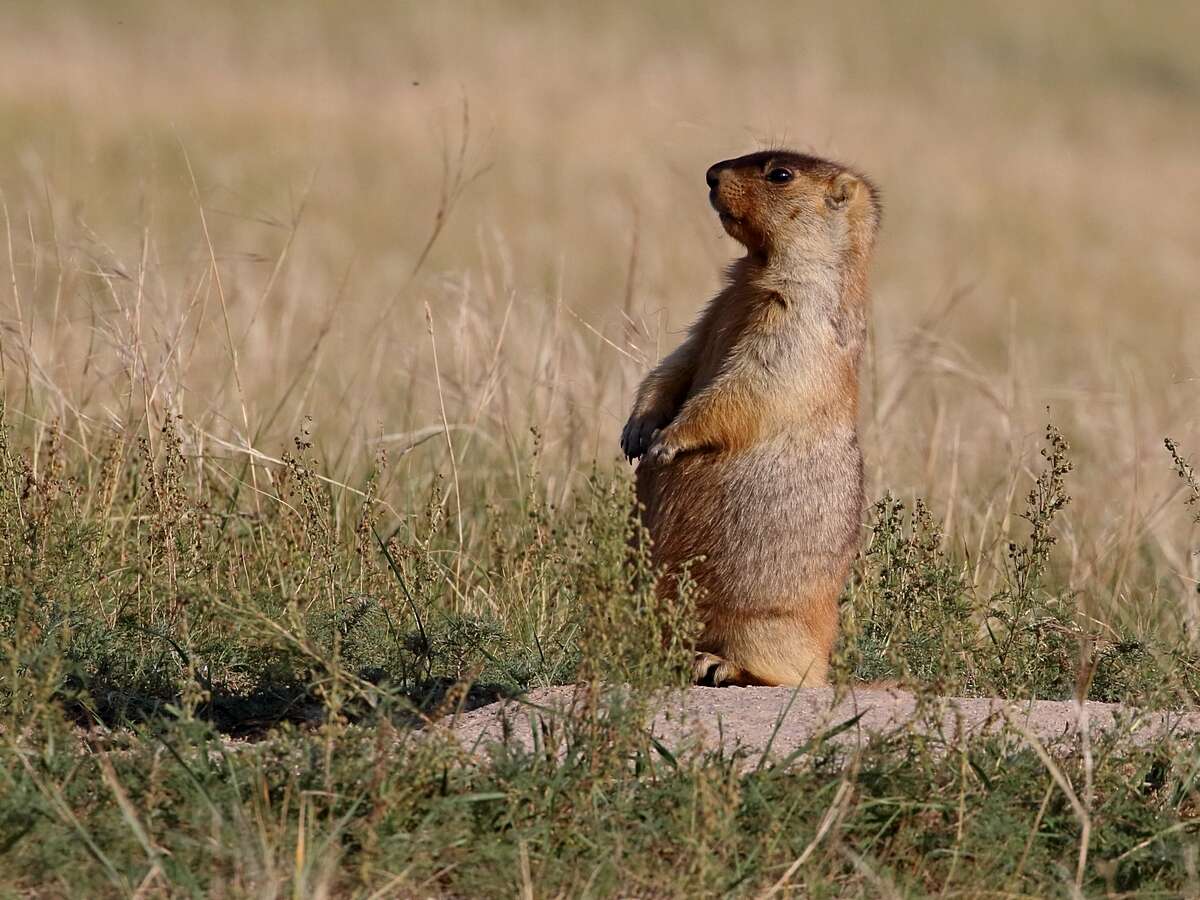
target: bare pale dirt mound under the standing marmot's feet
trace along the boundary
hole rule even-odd
[[[492,743],[533,749],[562,733],[560,724],[582,701],[575,685],[542,688],[444,720],[470,750]],[[1028,742],[1070,746],[1086,731],[1096,739],[1120,732],[1135,743],[1200,733],[1200,712],[1146,712],[1116,703],[923,697],[898,689],[689,688],[665,694],[652,733],[666,748],[769,750],[785,758],[824,737],[844,746],[907,732],[955,745],[1008,730]]]

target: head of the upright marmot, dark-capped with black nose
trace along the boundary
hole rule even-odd
[[[708,199],[752,257],[869,252],[880,196],[864,175],[829,160],[762,150],[725,160],[706,175]]]

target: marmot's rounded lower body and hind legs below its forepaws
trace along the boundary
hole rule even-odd
[[[766,683],[824,683],[858,545],[860,478],[850,427],[638,467],[655,562],[670,576],[697,560],[697,650]]]

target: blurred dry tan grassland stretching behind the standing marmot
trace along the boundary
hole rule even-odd
[[[869,496],[928,498],[986,584],[1049,416],[1063,583],[1138,629],[1200,616],[1162,448],[1200,446],[1195,4],[2,16],[4,389],[35,467],[55,420],[96,452],[180,414],[232,472],[311,416],[344,484],[384,436],[404,515],[452,468],[444,404],[470,540],[529,426],[552,497],[616,464],[736,252],[706,167],[784,144],[883,188]]]

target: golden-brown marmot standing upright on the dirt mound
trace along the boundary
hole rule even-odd
[[[646,377],[620,443],[652,556],[695,560],[702,684],[824,684],[859,541],[858,368],[880,197],[862,174],[770,150],[707,173],[746,254]]]

